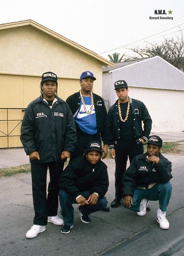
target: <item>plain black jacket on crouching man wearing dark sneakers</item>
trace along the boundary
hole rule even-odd
[[[93,165],[86,156],[75,158],[59,178],[59,187],[75,198],[83,191],[97,192],[99,198],[103,198],[108,186],[107,165],[101,160]]]

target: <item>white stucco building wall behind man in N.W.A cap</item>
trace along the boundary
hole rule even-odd
[[[127,81],[129,96],[144,102],[153,120],[152,132],[184,131],[184,73],[160,57],[103,74],[103,98],[113,105],[114,83]]]

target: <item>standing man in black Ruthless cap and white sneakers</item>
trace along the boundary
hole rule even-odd
[[[40,88],[40,97],[26,109],[20,137],[31,163],[35,218],[26,233],[29,239],[44,232],[47,221],[63,225],[57,216],[58,180],[76,141],[74,117],[66,102],[56,95],[57,75],[50,71],[43,73]],[[47,168],[50,182],[46,197]]]

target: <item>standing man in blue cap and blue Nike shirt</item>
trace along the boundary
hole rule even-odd
[[[96,78],[91,71],[84,71],[80,77],[81,89],[66,99],[74,115],[77,130],[75,151],[70,161],[83,155],[90,140],[103,140],[102,159],[107,156],[109,133],[107,111],[104,100],[92,93],[93,82]]]

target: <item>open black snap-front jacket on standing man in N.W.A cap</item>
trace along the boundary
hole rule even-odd
[[[144,103],[138,99],[130,98],[130,104],[133,113],[133,132],[134,139],[142,138],[146,141],[149,138],[152,120],[150,114]],[[118,111],[118,101],[112,105],[108,112],[109,121],[109,148],[114,148],[119,144],[120,140],[120,116]],[[144,123],[144,130],[142,128],[142,121]]]

